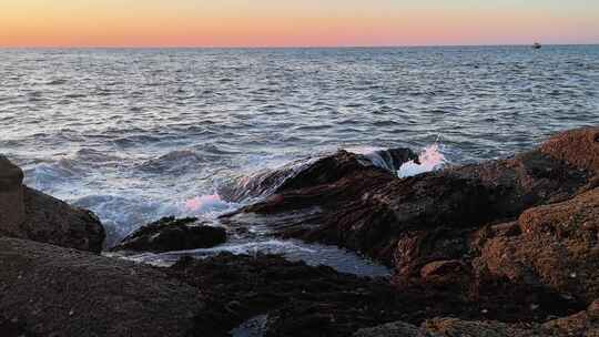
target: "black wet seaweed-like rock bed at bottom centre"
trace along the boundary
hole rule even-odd
[[[268,315],[267,336],[347,336],[359,327],[402,317],[398,295],[384,279],[281,256],[184,258],[170,272],[201,289],[210,308],[196,317],[196,336],[221,336],[263,314]],[[287,315],[288,310],[294,314]]]

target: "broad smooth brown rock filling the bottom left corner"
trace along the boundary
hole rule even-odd
[[[0,317],[39,336],[186,336],[203,308],[153,267],[7,237],[0,289]]]

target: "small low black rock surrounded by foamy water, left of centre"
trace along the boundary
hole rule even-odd
[[[223,227],[199,223],[195,217],[164,217],[121,241],[112,251],[171,252],[209,248],[226,242]]]

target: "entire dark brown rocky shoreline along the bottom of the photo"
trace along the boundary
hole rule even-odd
[[[599,127],[407,178],[395,171],[410,150],[378,157],[266,172],[222,192],[265,197],[216,224],[165,218],[112,249],[211,247],[261,225],[390,278],[264,254],[167,268],[101,256],[91,212],[23,186],[0,157],[0,336],[230,336],[252,319],[255,336],[599,336]]]

